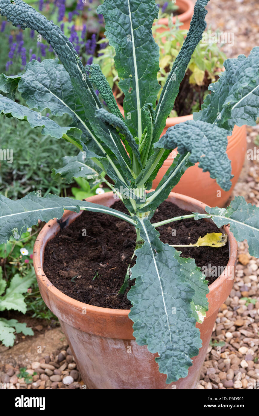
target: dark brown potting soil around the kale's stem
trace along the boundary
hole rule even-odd
[[[127,213],[121,201],[115,202],[112,208]],[[190,213],[165,201],[156,210],[152,222]],[[168,244],[195,243],[200,236],[219,232],[215,224],[192,218],[163,225],[158,230],[161,241]],[[172,232],[176,235],[172,236]],[[84,211],[47,243],[44,272],[55,287],[73,299],[95,306],[129,309],[131,303],[126,293],[117,293],[128,265],[134,265],[131,257],[135,243],[133,225],[111,215]],[[199,267],[206,266],[209,270],[216,266],[219,275],[220,268],[226,266],[229,260],[228,244],[221,248],[183,247],[177,250],[182,251],[182,257],[194,258]],[[217,277],[207,277],[209,284]]]

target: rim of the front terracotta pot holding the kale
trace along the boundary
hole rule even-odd
[[[107,195],[107,198],[109,198],[111,195],[113,195],[113,192],[112,191],[107,192],[106,195]],[[192,203],[196,205],[197,208],[199,208],[201,211],[204,211],[205,207],[207,206],[205,203],[200,202],[195,198],[190,198],[188,196],[185,196],[179,193],[170,192],[168,198],[169,197],[180,199],[183,202]],[[103,195],[91,196],[90,198],[87,198],[87,201],[98,203],[99,199],[101,198],[103,198]],[[78,214],[74,211],[66,210],[62,218],[68,218],[71,215],[77,216]],[[73,305],[73,307],[78,310],[82,310],[83,308],[86,308],[89,312],[92,312],[92,313],[96,312],[97,314],[101,313],[103,316],[113,315],[117,317],[127,317],[130,312],[130,309],[110,309],[110,308],[104,308],[104,307],[89,305],[87,303],[80,302],[79,300],[75,300],[72,297],[65,295],[63,292],[57,289],[57,287],[55,287],[49,281],[49,279],[47,278],[43,270],[43,263],[44,263],[43,256],[44,256],[44,250],[47,245],[47,242],[51,240],[52,238],[54,238],[54,236],[57,235],[59,230],[57,230],[57,233],[55,233],[54,235],[52,234],[52,238],[48,238],[46,240],[46,236],[49,233],[50,229],[53,226],[57,227],[57,225],[58,225],[57,218],[55,218],[54,220],[50,220],[47,224],[45,224],[42,230],[40,231],[35,241],[34,248],[33,248],[33,264],[35,267],[35,272],[36,272],[38,279],[41,280],[42,284],[47,288],[47,291],[52,292],[52,294],[57,296],[62,303]],[[229,275],[227,272],[228,267],[229,266],[234,267],[236,263],[236,259],[237,259],[237,241],[235,240],[234,235],[229,231],[228,226],[224,226],[223,229],[227,233],[228,240],[229,240],[229,261],[227,263],[227,267],[224,270],[224,272],[211,285],[208,286],[210,292],[212,290],[213,291],[217,290],[217,288],[220,287],[220,285],[222,285],[222,283],[225,280],[229,279]],[[42,249],[42,244],[44,245],[43,249]]]

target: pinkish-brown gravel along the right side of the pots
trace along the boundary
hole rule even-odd
[[[211,0],[207,9],[208,27],[234,32],[234,45],[224,45],[227,57],[242,53],[247,56],[254,46],[259,45],[258,2],[225,0],[222,13],[222,5]],[[257,136],[259,126],[247,127],[248,149],[258,146]],[[237,195],[259,207],[257,160],[245,160],[231,199]],[[197,389],[259,388],[259,260],[249,255],[246,242],[238,245],[234,286],[220,308],[212,333],[212,340],[223,342],[224,346],[209,346]],[[248,300],[242,299],[244,297]],[[211,384],[211,376],[207,373],[210,366],[215,369],[220,382],[215,380]]]

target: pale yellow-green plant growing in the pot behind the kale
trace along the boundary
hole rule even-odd
[[[158,82],[161,86],[160,93],[165,85],[168,74],[170,73],[173,63],[183,46],[187,30],[179,29],[177,25],[169,20],[169,30],[160,32],[161,29],[168,29],[164,25],[153,25],[152,32],[155,42],[160,48]],[[187,65],[185,77],[180,84],[180,92],[174,103],[174,109],[170,112],[170,117],[185,116],[200,110],[200,106],[208,94],[208,85],[215,82],[223,69],[223,63],[226,59],[221,46],[216,43],[208,43],[201,40],[195,48],[190,62]],[[104,40],[99,41],[101,44]],[[114,64],[116,54],[114,48],[108,45],[103,54],[95,58],[95,62],[101,67],[110,87],[116,91],[116,98],[120,99],[122,92],[119,89],[118,72]]]

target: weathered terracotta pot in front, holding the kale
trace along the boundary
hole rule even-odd
[[[114,203],[113,193],[97,195],[88,198],[88,201],[111,206]],[[192,211],[203,212],[205,207],[200,201],[176,193],[170,193],[168,201]],[[63,226],[64,222],[68,226],[80,214],[66,211],[62,217]],[[201,332],[202,348],[193,359],[188,376],[168,385],[165,384],[165,374],[158,371],[155,362],[157,354],[151,354],[146,346],[136,344],[132,321],[128,318],[129,310],[96,307],[74,300],[54,287],[44,274],[44,249],[47,242],[57,235],[59,227],[57,220],[51,220],[39,233],[33,250],[34,267],[43,300],[59,318],[86,386],[89,389],[194,389],[217,312],[233,286],[230,270],[235,269],[237,242],[229,229],[224,228],[229,237],[230,268],[225,269],[209,286],[209,311],[204,322],[197,324]],[[49,278],[51,280],[50,276]]]

